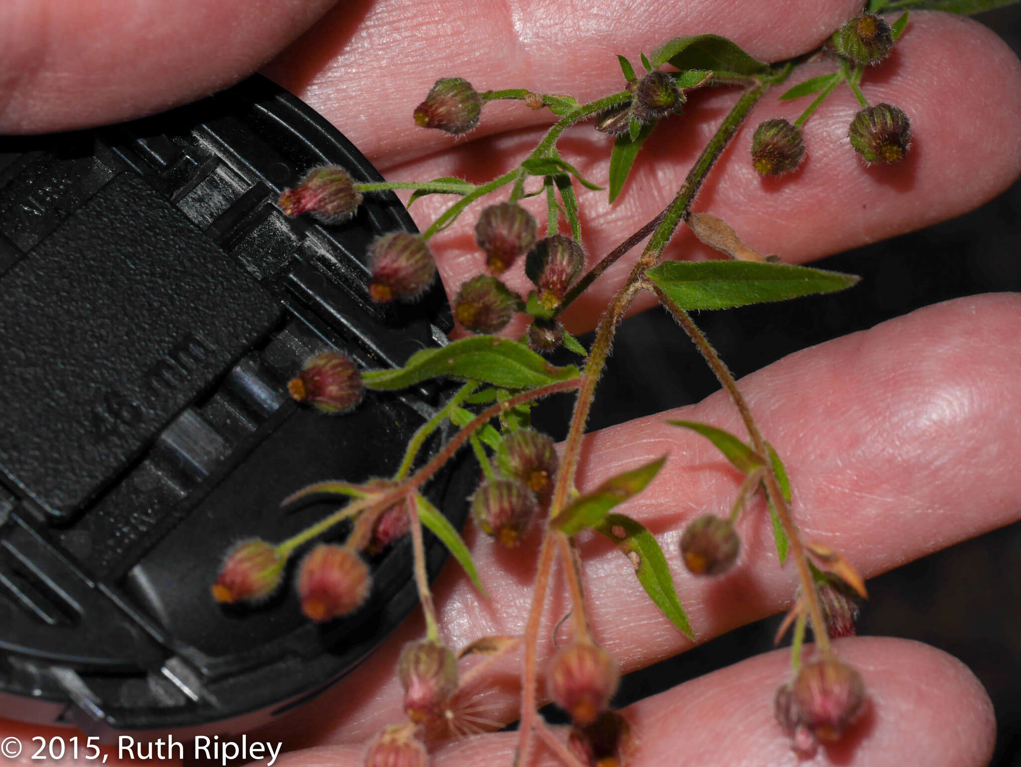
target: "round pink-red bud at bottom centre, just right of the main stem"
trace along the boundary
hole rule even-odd
[[[585,726],[606,710],[620,681],[610,653],[591,641],[576,641],[553,656],[546,691],[572,722]]]

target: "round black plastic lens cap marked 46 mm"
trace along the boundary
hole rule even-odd
[[[324,164],[382,180],[260,77],[133,123],[0,137],[0,715],[107,737],[250,729],[418,603],[406,539],[327,624],[290,586],[247,608],[209,593],[232,545],[337,506],[282,509],[290,493],[392,474],[445,394],[369,392],[340,417],[287,396],[314,353],[399,366],[452,326],[438,284],[415,304],[369,298],[369,243],[417,231],[394,195],[336,226],[280,211]],[[427,486],[457,527],[476,473],[466,454]],[[431,577],[445,557],[427,535]]]

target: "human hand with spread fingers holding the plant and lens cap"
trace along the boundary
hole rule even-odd
[[[221,20],[237,21],[236,48],[212,34],[194,40],[187,35],[171,36],[161,48],[159,35],[174,30],[172,21],[191,22],[187,6],[180,5],[174,19],[161,19],[165,22],[162,32],[153,29],[150,20],[148,27],[139,25],[134,38],[132,30],[123,38],[114,37],[137,40],[139,30],[145,28],[155,36],[149,46],[152,58],[158,59],[160,53],[187,53],[187,58],[178,60],[201,62],[204,80],[177,74],[175,80],[185,81],[185,88],[171,78],[160,78],[154,69],[155,80],[145,82],[133,64],[133,77],[114,86],[109,84],[109,69],[105,80],[103,70],[97,69],[90,75],[93,80],[78,85],[79,92],[102,80],[107,84],[104,93],[117,97],[102,108],[94,104],[90,108],[96,111],[83,118],[105,122],[131,116],[196,95],[200,90],[194,90],[193,80],[201,80],[205,84],[201,87],[206,88],[239,77],[258,59],[254,54],[242,55],[243,51],[260,45],[265,55],[309,18],[302,15],[303,8],[296,12],[296,4],[284,8],[277,4],[258,19],[250,9],[241,13],[217,5],[214,15],[223,13]],[[472,17],[454,13],[450,5],[383,2],[334,9],[270,71],[335,122],[391,180],[458,175],[474,181],[476,175],[488,178],[499,172],[501,163],[510,166],[518,158],[516,152],[526,151],[534,136],[527,124],[547,119],[548,114],[520,106],[487,106],[484,122],[470,135],[471,141],[454,143],[446,136],[415,129],[407,116],[436,77],[459,75],[479,87],[522,85],[591,96],[617,87],[620,76],[612,56],[617,51],[631,53],[676,35],[710,31],[733,38],[761,57],[782,58],[814,47],[857,10],[855,3],[847,2],[813,0],[798,3],[797,8],[785,3],[788,15],[780,23],[776,9],[761,4],[749,3],[738,13],[710,3],[683,10],[648,3],[629,9],[634,14],[630,26],[620,30],[612,22],[593,22],[604,17],[594,12],[597,8],[584,13],[574,9],[569,17],[555,20],[571,30],[572,45],[585,53],[582,58],[574,48],[554,44],[554,40],[570,39],[550,26],[548,15],[555,8],[517,8],[508,14],[504,30],[490,22],[491,10]],[[605,11],[603,4],[597,5]],[[545,21],[540,11],[547,14]],[[446,20],[444,13],[452,17]],[[671,13],[677,17],[665,17]],[[81,29],[85,21],[78,23]],[[215,25],[215,18],[205,19],[210,29],[218,29]],[[786,29],[780,33],[778,25]],[[436,45],[437,39],[444,39],[443,33],[452,45]],[[181,39],[188,40],[185,51]],[[62,47],[53,43],[47,49],[54,56],[63,55]],[[224,57],[205,56],[202,43],[226,49]],[[50,82],[66,87],[66,77],[59,81],[53,77],[66,68],[59,61],[51,61],[49,69],[34,69],[25,63],[32,63],[31,53],[16,41],[13,48],[0,50],[13,50],[15,63],[21,57],[22,68],[8,66],[8,71],[36,71],[33,77],[44,83],[48,73]],[[136,57],[137,50],[133,48]],[[382,50],[387,53],[381,54]],[[494,71],[493,60],[504,60],[507,50],[519,52],[515,64]],[[414,70],[408,71],[407,61],[415,63]],[[540,62],[551,62],[549,75],[533,80],[529,71]],[[808,68],[798,77],[817,74]],[[987,83],[976,78],[965,83],[931,77],[933,71],[944,70],[995,71],[999,80]],[[857,107],[849,97],[835,96],[806,128],[812,156],[795,178],[760,182],[745,159],[749,133],[745,131],[711,176],[696,208],[725,217],[763,252],[778,252],[795,262],[963,212],[999,192],[1018,173],[1018,77],[1013,56],[980,28],[945,16],[913,14],[910,34],[870,86],[912,116],[916,144],[905,164],[893,172],[862,170],[854,153],[841,146],[845,125]],[[21,82],[30,80],[27,75],[21,78]],[[18,79],[13,77],[11,82],[13,98],[0,115],[8,127],[66,125],[45,122],[59,116],[55,102],[47,111],[42,98],[45,91],[37,90],[34,104],[18,107]],[[162,94],[163,100],[153,94]],[[64,98],[75,103],[69,96]],[[733,99],[734,94],[727,92],[692,99],[685,115],[675,122],[677,138],[663,132],[650,140],[630,190],[615,206],[588,200],[585,207],[583,196],[583,217],[595,233],[586,246],[594,257],[663,207],[700,140]],[[19,108],[22,122],[10,122],[18,118]],[[792,116],[795,109],[778,104],[774,95],[757,108],[749,123]],[[968,136],[979,119],[976,114],[981,115],[985,140],[962,145],[961,137]],[[36,122],[26,122],[29,118]],[[569,141],[576,156],[582,157],[577,163],[581,171],[591,178],[604,178],[607,140],[582,129]],[[440,198],[427,197],[414,212],[422,217],[420,221],[429,221],[442,203]],[[467,226],[450,230],[443,238],[434,240],[434,252],[447,289],[455,290],[478,271],[481,254]],[[671,250],[687,254],[691,247],[689,240],[678,237]],[[618,270],[603,276],[576,304],[569,327],[591,327],[625,269],[622,261]],[[512,287],[524,284],[520,275],[518,279]],[[1013,384],[1018,351],[1010,332],[1019,311],[1017,299],[1004,296],[930,307],[793,355],[742,382],[764,430],[784,456],[795,486],[795,514],[810,537],[835,542],[868,576],[1016,517],[1021,485],[1013,478],[1006,457],[1018,446],[1019,438],[1010,428],[1011,419],[1004,415],[1016,413],[1021,404]],[[737,425],[729,403],[720,396],[693,412],[686,410],[684,417],[724,427]],[[676,536],[672,531],[696,513],[725,508],[736,483],[698,437],[663,426],[664,418],[593,435],[579,480],[584,489],[669,450],[672,458],[667,469],[632,502],[629,512],[659,533],[670,550]],[[744,523],[745,554],[738,571],[709,584],[684,574],[678,577],[699,637],[781,609],[789,601],[792,574],[776,567],[762,520],[762,515],[750,516]],[[444,573],[436,593],[441,622],[453,646],[483,633],[520,631],[529,593],[528,549],[507,557],[494,552],[487,540],[472,543],[493,600],[490,605],[479,603],[453,568]],[[593,584],[596,635],[626,669],[647,665],[686,645],[634,588],[627,563],[619,555],[597,542],[583,547]],[[557,602],[546,612],[561,615],[565,610]],[[548,637],[551,628],[546,626],[542,635]],[[402,641],[419,633],[420,626],[405,626],[348,680],[314,704],[314,709],[301,710],[277,731],[297,730],[288,734],[292,745],[349,744],[396,720],[396,653]],[[974,681],[954,662],[933,651],[890,640],[855,639],[840,642],[838,649],[841,657],[863,671],[874,707],[874,716],[849,744],[848,763],[900,763],[909,755],[923,764],[982,762],[991,744],[989,711]],[[746,759],[792,762],[770,710],[785,665],[783,654],[753,659],[637,705],[630,715],[642,739],[634,764],[658,764],[682,748],[692,761],[710,764]],[[361,694],[355,697],[352,690]],[[513,718],[514,711],[505,707],[496,709],[494,715]],[[336,748],[289,758],[309,764],[345,758],[357,762],[360,747]],[[438,753],[437,762],[489,762],[508,758],[510,748],[513,738],[493,735],[450,746]],[[498,752],[505,753],[499,756]],[[834,761],[841,759],[839,754],[830,756]]]

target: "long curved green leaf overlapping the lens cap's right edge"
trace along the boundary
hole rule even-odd
[[[517,341],[472,336],[438,349],[417,351],[403,368],[367,371],[361,374],[361,382],[366,388],[389,391],[414,386],[429,378],[448,377],[525,389],[577,376],[578,369],[574,366],[555,368]]]

